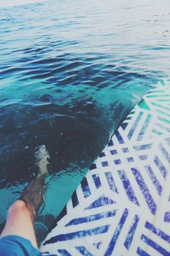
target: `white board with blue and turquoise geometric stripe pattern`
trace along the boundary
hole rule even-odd
[[[170,79],[112,136],[41,245],[42,255],[170,255]]]

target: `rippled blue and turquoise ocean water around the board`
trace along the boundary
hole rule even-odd
[[[170,69],[169,0],[55,0],[0,9],[0,223],[50,155],[45,236],[109,137]]]

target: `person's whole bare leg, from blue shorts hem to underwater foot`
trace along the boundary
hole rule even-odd
[[[41,146],[35,153],[39,174],[24,189],[22,197],[9,208],[6,224],[0,237],[17,235],[29,239],[37,247],[35,238],[34,221],[37,210],[43,202],[45,175],[47,174],[48,152]]]

